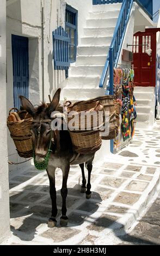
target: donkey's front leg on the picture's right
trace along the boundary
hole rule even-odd
[[[63,182],[60,190],[62,197],[62,207],[61,207],[61,217],[60,217],[60,225],[66,226],[68,222],[68,218],[66,216],[66,197],[67,197],[67,178],[69,176],[70,164],[67,164],[64,168],[61,168],[63,172]]]

